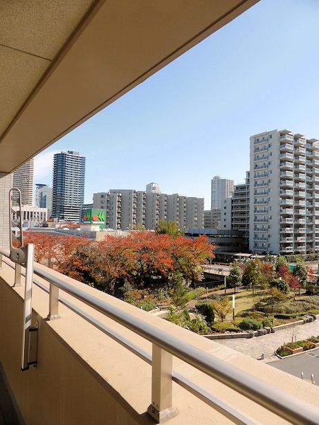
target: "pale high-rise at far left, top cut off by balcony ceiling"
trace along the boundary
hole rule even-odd
[[[33,170],[35,160],[30,159],[13,172],[13,187],[21,190],[21,204],[33,205]]]

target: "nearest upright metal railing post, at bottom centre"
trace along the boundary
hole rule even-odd
[[[147,409],[158,424],[177,415],[172,406],[173,356],[158,345],[152,348],[152,404]]]

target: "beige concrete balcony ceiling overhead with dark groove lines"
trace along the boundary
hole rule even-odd
[[[12,172],[255,3],[1,2],[0,172]]]

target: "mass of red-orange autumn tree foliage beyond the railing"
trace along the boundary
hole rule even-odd
[[[197,282],[202,278],[201,265],[214,250],[205,236],[188,239],[152,231],[107,235],[101,242],[30,232],[25,242],[35,244],[37,262],[111,293],[125,283],[140,288],[154,280]]]

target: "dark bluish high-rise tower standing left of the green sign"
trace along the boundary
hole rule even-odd
[[[79,152],[61,152],[53,160],[52,217],[79,221],[84,202],[85,158]]]

